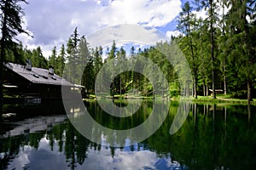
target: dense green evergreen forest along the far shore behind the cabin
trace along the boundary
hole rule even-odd
[[[169,82],[171,96],[177,96],[181,91],[177,73],[164,54],[157,50],[177,42],[189,62],[193,75],[192,95],[195,98],[197,95],[210,95],[209,89],[213,90],[212,97],[216,98],[215,89],[223,89],[224,94],[250,101],[255,97],[256,86],[255,3],[253,0],[195,0],[194,3],[185,3],[177,17],[180,36],[157,42],[150,48],[132,47],[127,52],[124,48],[117,48],[114,40],[106,50],[102,44],[90,48],[90,42],[80,36],[78,28],[75,28],[67,44],[53,47],[48,59],[45,58],[48,56],[43,56],[40,47],[29,49],[20,42],[15,43],[15,48],[4,48],[4,60],[25,65],[26,59],[31,59],[32,66],[42,68],[53,65],[55,73],[60,76],[66,65],[69,72],[64,72],[63,77],[70,82],[80,83],[73,79],[73,75],[83,72],[81,84],[88,94],[94,94],[96,75],[104,63],[109,59],[116,59],[116,65],[124,60],[134,62],[133,58],[142,55],[160,67]],[[205,19],[194,12],[202,9],[207,11]],[[86,64],[84,71],[78,66],[81,63]],[[76,69],[73,69],[74,66]],[[115,77],[111,93],[125,94],[132,88],[137,88],[144,96],[154,94],[148,79],[135,71],[125,71]]]

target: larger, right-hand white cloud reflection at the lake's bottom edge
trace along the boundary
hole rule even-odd
[[[88,158],[77,169],[180,169],[179,162],[171,157],[158,156],[154,151],[115,149],[113,158],[110,149],[88,151]]]

